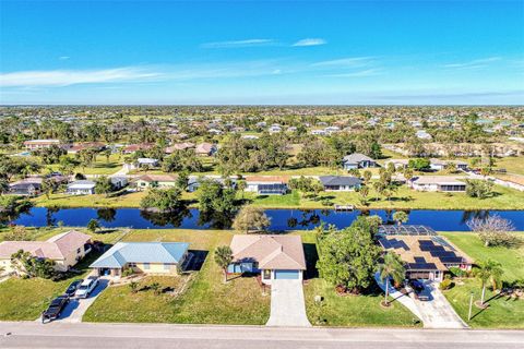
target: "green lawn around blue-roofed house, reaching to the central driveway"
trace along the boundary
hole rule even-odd
[[[227,230],[133,230],[126,241],[187,241],[191,250],[207,251],[202,269],[192,275],[189,287],[178,297],[154,296],[151,291],[131,294],[129,287],[111,287],[88,309],[84,321],[265,324],[270,296],[262,296],[252,277],[236,278],[224,285],[223,275],[213,261],[213,250],[229,244],[233,233]]]

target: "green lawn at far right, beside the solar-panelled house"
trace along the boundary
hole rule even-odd
[[[476,261],[492,258],[500,262],[504,269],[504,280],[524,279],[524,246],[519,249],[486,248],[478,237],[472,232],[441,232],[441,234]],[[475,301],[480,300],[481,287],[479,280],[475,278],[463,281],[455,280],[455,286],[444,291],[444,296],[466,322],[471,292],[474,293]],[[467,322],[468,325],[472,327],[524,328],[523,299],[496,294],[488,288],[486,300],[489,308],[480,310],[474,305],[473,317]]]

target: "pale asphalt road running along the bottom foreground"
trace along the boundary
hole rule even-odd
[[[522,330],[0,323],[0,348],[523,348]]]

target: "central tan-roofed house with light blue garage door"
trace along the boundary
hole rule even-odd
[[[236,234],[228,273],[260,273],[262,282],[274,279],[303,279],[306,257],[302,239],[287,234]]]

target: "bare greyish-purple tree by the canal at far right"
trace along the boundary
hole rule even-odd
[[[469,229],[478,233],[478,238],[486,246],[511,248],[520,243],[520,239],[512,234],[515,230],[513,224],[498,215],[487,218],[473,218],[467,221]]]

